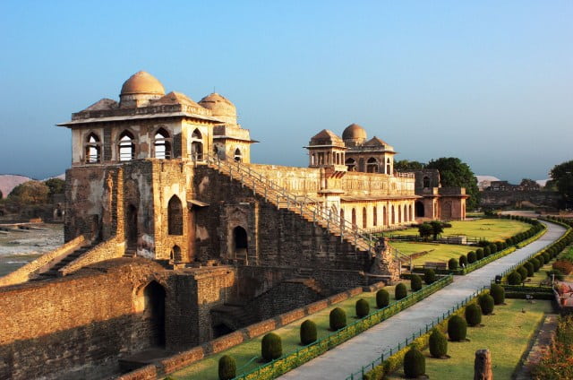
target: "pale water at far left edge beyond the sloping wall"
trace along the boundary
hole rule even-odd
[[[0,276],[64,244],[63,224],[38,223],[34,227],[45,230],[0,233]]]

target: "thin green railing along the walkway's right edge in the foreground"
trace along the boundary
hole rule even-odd
[[[390,349],[386,350],[386,352],[382,351],[380,358],[375,358],[370,363],[366,364],[365,366],[362,366],[359,370],[351,373],[349,376],[346,376],[346,380],[357,380],[357,379],[362,380],[365,373],[371,371],[372,369],[374,369],[374,367],[382,364],[385,359],[391,357],[393,354],[398,353],[399,350],[406,348],[408,344],[412,344],[416,338],[421,337],[424,333],[431,332],[435,326],[440,324],[440,322],[444,321],[445,319],[448,319],[450,315],[455,314],[461,307],[465,307],[475,297],[479,296],[484,289],[489,289],[489,286],[484,285],[482,288],[475,290],[475,292],[472,293],[471,296],[467,296],[462,301],[458,302],[455,307],[449,308],[448,311],[432,319],[431,323],[425,324],[425,326],[421,327],[419,331],[413,332],[412,337],[406,337],[406,340],[398,341],[397,346],[395,346],[394,348],[390,347]]]

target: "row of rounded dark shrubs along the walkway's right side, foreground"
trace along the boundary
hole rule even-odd
[[[449,341],[466,341],[467,326],[478,326],[482,323],[482,315],[491,315],[493,313],[494,305],[502,305],[505,302],[505,291],[503,287],[497,284],[492,284],[490,294],[484,293],[476,299],[475,303],[466,306],[462,313],[455,314],[449,317],[442,324],[444,332],[441,332],[440,325],[434,328],[429,335],[427,345],[430,350],[432,358],[444,358],[448,354],[448,339]],[[446,333],[448,338],[446,337]],[[404,374],[406,378],[417,378],[423,376],[425,373],[425,357],[421,350],[425,346],[423,337],[418,338],[419,341],[412,344],[403,358]],[[395,355],[398,358],[400,353]],[[380,366],[374,367],[372,371],[364,376],[364,379],[373,380],[381,379],[389,375],[390,372],[397,368],[392,364],[392,357],[382,363]]]

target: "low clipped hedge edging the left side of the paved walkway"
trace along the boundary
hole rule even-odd
[[[453,276],[451,275],[443,277],[442,279],[433,282],[431,285],[428,285],[423,289],[411,293],[406,298],[400,299],[388,307],[378,309],[372,314],[366,315],[362,319],[357,320],[353,324],[348,324],[337,332],[330,333],[327,337],[322,338],[319,341],[315,341],[301,349],[286,353],[278,359],[272,360],[269,363],[265,363],[260,367],[253,369],[251,372],[236,376],[234,380],[266,380],[283,375],[295,367],[299,367],[312,360],[312,358],[316,358],[324,352],[338,346],[344,341],[355,337],[359,333],[368,330],[373,325],[380,324],[390,316],[396,315],[407,307],[415,305],[415,303],[419,302],[423,298],[426,298],[436,291],[448,286],[452,281]]]

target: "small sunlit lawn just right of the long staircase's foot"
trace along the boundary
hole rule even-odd
[[[409,241],[391,241],[390,246],[395,246],[405,255],[412,255],[422,251],[432,251],[427,255],[422,255],[414,260],[415,265],[422,265],[425,262],[448,263],[450,258],[458,259],[460,255],[467,255],[469,251],[475,251],[475,246],[458,246],[455,244],[435,244],[417,243]]]

